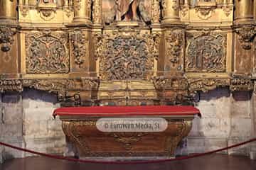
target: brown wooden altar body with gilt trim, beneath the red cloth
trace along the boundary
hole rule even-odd
[[[194,109],[198,111],[196,108]],[[159,112],[161,113],[161,111]],[[55,111],[55,115],[58,115],[58,109]],[[169,113],[169,115],[149,114],[139,116],[139,113],[135,113],[133,116],[130,113],[126,117],[164,118],[168,122],[167,128],[163,132],[102,132],[97,129],[96,122],[98,119],[113,116],[114,118],[124,118],[124,115],[119,114],[72,115],[67,111],[60,111],[63,132],[68,140],[75,145],[80,158],[131,159],[133,157],[139,159],[140,157],[145,159],[145,157],[149,157],[154,159],[155,157],[175,157],[174,153],[178,142],[181,142],[183,137],[188,135],[194,118],[194,115],[188,114],[188,111],[183,114],[175,113],[174,115]]]

